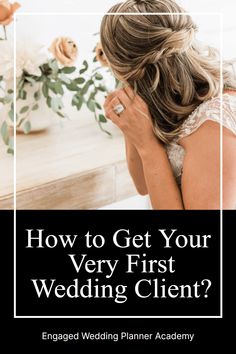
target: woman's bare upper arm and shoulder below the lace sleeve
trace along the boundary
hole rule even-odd
[[[223,207],[236,207],[236,136],[223,132]],[[220,208],[220,125],[205,121],[194,133],[181,139],[186,151],[182,194],[187,209]]]

